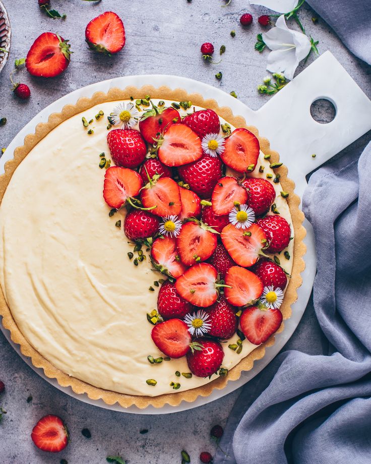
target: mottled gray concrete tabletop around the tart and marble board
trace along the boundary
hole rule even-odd
[[[10,60],[0,75],[0,118],[8,119],[7,125],[0,127],[0,146],[6,147],[19,129],[53,100],[87,84],[121,75],[168,73],[198,79],[226,92],[234,90],[241,101],[254,109],[269,98],[256,91],[267,74],[267,54],[254,51],[256,34],[262,30],[256,20],[264,10],[250,8],[246,0],[232,0],[227,8],[220,8],[223,2],[219,0],[193,0],[192,3],[187,0],[102,0],[99,3],[51,0],[53,8],[67,13],[65,21],[44,16],[37,0],[3,2],[12,23],[13,37]],[[106,10],[121,16],[127,34],[125,49],[111,58],[91,53],[84,42],[88,21]],[[255,23],[243,29],[238,19],[249,11]],[[320,40],[320,51],[331,50],[371,97],[371,68],[350,54],[321,19],[313,24],[314,12],[310,8],[304,7],[300,16],[307,31]],[[235,38],[229,34],[232,29],[236,31]],[[50,80],[32,78],[25,70],[18,73],[16,79],[27,83],[32,92],[29,101],[19,101],[10,91],[9,74],[14,59],[25,56],[33,40],[44,31],[59,32],[70,39],[74,51],[71,65],[67,72]],[[219,65],[202,62],[199,48],[204,41],[213,42],[216,50],[222,44],[226,46]],[[308,63],[311,60],[313,57]],[[223,73],[220,82],[214,77],[218,71]],[[319,108],[318,111],[323,112],[320,118],[325,120],[327,110]],[[367,139],[369,134],[357,145],[364,145]],[[322,345],[310,304],[286,349],[320,353]],[[102,410],[50,386],[18,357],[1,333],[0,379],[7,387],[0,397],[0,405],[8,411],[0,424],[2,464],[58,463],[61,458],[67,459],[69,464],[98,464],[105,462],[107,454],[116,453],[131,464],[180,464],[181,449],[188,450],[192,462],[199,462],[200,451],[213,453],[215,449],[208,438],[210,427],[216,423],[225,424],[238,396],[236,391],[204,407],[164,416]],[[29,395],[33,397],[31,402],[27,402]],[[71,443],[57,455],[37,450],[30,438],[36,421],[49,413],[63,417],[71,432]],[[90,429],[90,439],[81,434],[84,427]],[[149,432],[141,435],[139,432],[144,428]]]

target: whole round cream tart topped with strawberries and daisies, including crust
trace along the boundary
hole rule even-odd
[[[123,406],[223,388],[303,269],[287,169],[213,100],[112,89],[52,114],[1,181],[0,313],[45,374]]]

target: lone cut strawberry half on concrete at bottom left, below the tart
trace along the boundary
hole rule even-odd
[[[63,420],[49,414],[42,417],[32,429],[31,438],[42,451],[57,453],[68,445],[68,430]]]

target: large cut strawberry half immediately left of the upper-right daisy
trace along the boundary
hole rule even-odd
[[[174,124],[163,134],[158,157],[166,166],[182,166],[202,156],[200,137],[184,124]]]

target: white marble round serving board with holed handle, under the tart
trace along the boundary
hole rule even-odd
[[[171,88],[183,88],[190,93],[198,92],[204,98],[214,98],[219,106],[229,106],[234,114],[242,115],[249,125],[259,129],[261,136],[269,139],[272,149],[279,152],[280,160],[288,167],[289,178],[295,182],[295,192],[300,198],[306,187],[307,173],[371,129],[371,101],[335,57],[327,51],[258,111],[253,111],[215,87],[177,76],[125,76],[83,87],[44,108],[17,134],[0,159],[0,172],[4,172],[4,164],[13,157],[14,149],[23,145],[24,137],[34,132],[38,123],[46,122],[50,113],[60,111],[68,103],[74,104],[82,96],[90,97],[96,91],[107,92],[111,87],[125,88],[128,85],[141,87],[145,84],[154,87],[167,85]],[[328,124],[316,122],[310,113],[311,104],[320,98],[330,100],[336,108],[335,118]],[[312,157],[313,153],[316,154],[315,158]],[[196,408],[221,398],[251,380],[272,361],[296,329],[310,298],[316,274],[313,229],[307,220],[304,221],[304,226],[307,230],[305,238],[307,251],[304,256],[306,267],[301,274],[303,284],[298,289],[297,302],[292,305],[292,316],[285,321],[284,331],[276,335],[275,344],[267,349],[266,356],[262,360],[255,362],[252,370],[242,373],[239,380],[228,382],[223,390],[214,390],[210,396],[199,397],[193,403],[183,401],[177,407],[166,405],[161,409],[149,407],[139,410],[136,407],[121,408],[117,404],[109,406],[101,400],[91,400],[85,394],[77,395],[70,387],[60,387],[55,379],[45,377],[42,369],[32,366],[30,360],[20,353],[19,346],[10,340],[9,331],[2,325],[0,328],[18,354],[37,374],[59,390],[81,401],[110,410],[136,414],[168,414]]]

